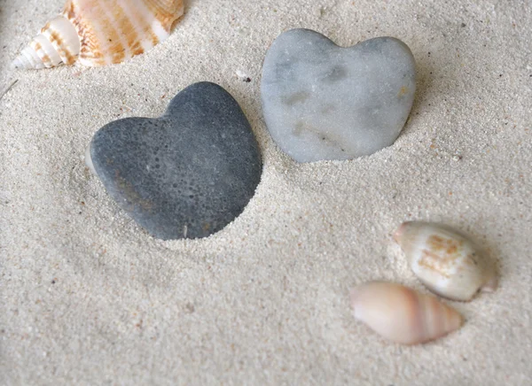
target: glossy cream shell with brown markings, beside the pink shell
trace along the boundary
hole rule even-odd
[[[434,293],[470,300],[479,290],[497,288],[495,267],[464,235],[423,221],[403,223],[394,234],[412,271]]]

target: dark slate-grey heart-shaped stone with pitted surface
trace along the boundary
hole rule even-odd
[[[113,199],[157,238],[211,235],[254,196],[262,161],[239,104],[201,82],[157,119],[128,118],[94,135],[87,164]]]

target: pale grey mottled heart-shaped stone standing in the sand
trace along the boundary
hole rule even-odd
[[[266,55],[262,109],[270,135],[296,161],[350,159],[395,142],[415,89],[411,50],[395,38],[341,48],[293,29]]]

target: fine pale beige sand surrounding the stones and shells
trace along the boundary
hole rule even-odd
[[[12,73],[62,0],[0,0],[0,89],[19,80],[0,101],[0,384],[529,384],[532,4],[423,3],[193,0],[167,42],[125,64]],[[259,84],[291,27],[409,44],[419,91],[393,146],[310,165],[278,150]],[[161,242],[82,155],[98,127],[158,116],[194,81],[236,97],[264,173],[222,232]],[[352,318],[348,290],[425,290],[389,235],[410,219],[473,235],[502,278],[494,294],[450,302],[458,332],[403,347]]]

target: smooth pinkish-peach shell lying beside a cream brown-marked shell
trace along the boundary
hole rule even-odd
[[[462,316],[435,297],[390,282],[368,282],[351,291],[357,320],[399,344],[422,344],[458,329]]]

